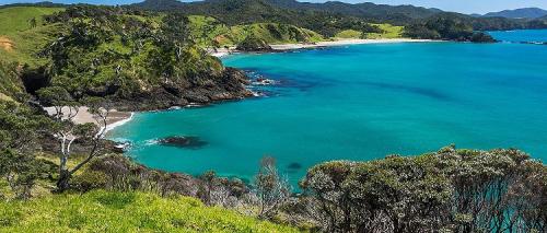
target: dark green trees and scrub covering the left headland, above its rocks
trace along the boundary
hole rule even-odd
[[[158,20],[160,19],[160,20]],[[188,19],[123,8],[78,5],[46,16],[66,32],[42,54],[51,84],[77,100],[129,98],[165,83],[200,85],[196,77],[220,75],[222,65],[189,36]]]

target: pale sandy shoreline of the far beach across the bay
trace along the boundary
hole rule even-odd
[[[307,48],[322,48],[322,47],[334,47],[334,46],[347,46],[347,45],[368,45],[368,44],[393,44],[393,43],[430,43],[430,42],[441,42],[434,39],[412,39],[412,38],[385,38],[385,39],[337,39],[337,40],[325,40],[317,43],[293,43],[293,44],[271,44],[269,45],[272,51],[288,51]],[[218,48],[216,51],[210,51],[209,54],[214,57],[225,57],[231,54],[243,53],[235,49],[234,46],[230,48]]]

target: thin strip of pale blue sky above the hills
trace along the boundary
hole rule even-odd
[[[0,0],[0,4],[18,2],[38,2],[44,0]],[[60,3],[85,2],[92,4],[127,4],[142,0],[49,0]],[[325,0],[299,0],[311,2],[324,2]],[[547,0],[340,0],[349,3],[374,2],[382,4],[414,4],[427,8],[439,8],[444,11],[455,11],[461,13],[487,13],[501,10],[512,10],[517,8],[543,8],[547,9]]]

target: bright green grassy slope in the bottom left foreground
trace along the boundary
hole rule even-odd
[[[0,202],[0,232],[298,232],[187,197],[96,190]]]

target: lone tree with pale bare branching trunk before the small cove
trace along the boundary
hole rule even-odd
[[[108,101],[101,97],[88,97],[82,102],[88,106],[86,110],[92,114],[95,124],[75,125],[73,118],[85,109],[80,103],[73,101],[70,94],[58,86],[45,88],[37,92],[42,103],[50,104],[55,108],[55,137],[59,140],[59,178],[57,180],[57,191],[62,193],[70,186],[71,176],[82,166],[97,156],[104,149],[104,133],[108,125],[107,118],[112,110]],[[81,140],[90,145],[89,152],[83,161],[74,167],[67,166],[71,155],[71,147],[75,140]]]

